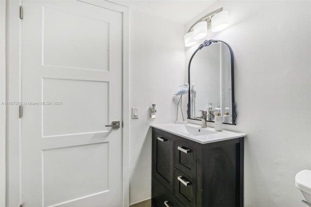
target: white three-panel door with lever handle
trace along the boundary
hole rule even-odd
[[[23,207],[121,207],[122,14],[23,0]],[[122,126],[121,126],[122,127]]]

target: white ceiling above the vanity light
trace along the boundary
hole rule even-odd
[[[186,24],[216,0],[110,0],[152,16]]]

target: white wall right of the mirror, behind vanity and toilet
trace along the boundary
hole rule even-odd
[[[305,207],[294,176],[311,169],[311,2],[220,0],[185,31],[220,7],[230,26],[207,39],[234,53],[238,118],[224,128],[247,133],[244,206]]]

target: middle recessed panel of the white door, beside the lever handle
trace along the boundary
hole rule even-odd
[[[43,105],[43,137],[109,130],[109,82],[43,78],[42,87],[42,102],[55,102]]]

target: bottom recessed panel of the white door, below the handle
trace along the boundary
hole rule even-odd
[[[44,206],[109,190],[108,148],[102,142],[43,150]]]

